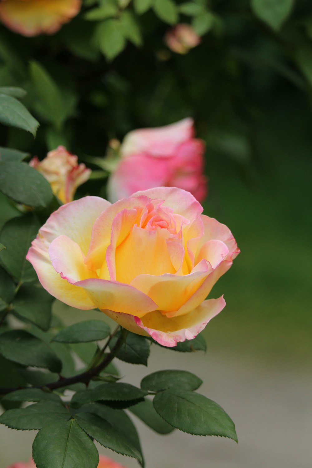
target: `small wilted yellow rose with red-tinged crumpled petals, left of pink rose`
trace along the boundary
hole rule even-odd
[[[77,160],[77,156],[68,153],[64,146],[58,146],[42,161],[35,157],[29,165],[47,179],[54,195],[61,202],[68,203],[73,201],[77,187],[86,182],[91,174],[91,169],[87,169],[84,164],[78,164]]]

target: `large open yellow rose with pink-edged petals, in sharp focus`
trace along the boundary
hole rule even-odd
[[[202,212],[175,187],[113,205],[80,198],[51,214],[26,258],[57,299],[175,346],[225,307],[223,296],[204,299],[239,253],[231,231]]]

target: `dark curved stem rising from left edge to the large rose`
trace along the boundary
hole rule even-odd
[[[109,341],[115,335],[116,331],[117,329],[112,333],[112,335],[109,338]],[[121,329],[120,336],[118,337],[115,346],[112,348],[110,353],[105,356],[102,362],[98,364],[97,366],[92,367],[91,369],[81,374],[74,375],[73,377],[69,377],[67,379],[64,379],[61,377],[56,382],[51,382],[45,385],[38,385],[35,387],[31,387],[31,388],[40,388],[40,389],[48,388],[49,390],[56,390],[58,388],[68,387],[69,385],[73,385],[74,383],[79,383],[79,382],[88,384],[89,381],[92,380],[92,378],[95,375],[98,375],[100,372],[102,372],[102,370],[105,369],[105,367],[107,367],[111,363],[111,361],[115,358],[117,352],[122,347],[127,335],[128,335],[128,331],[125,329]],[[103,350],[107,348],[109,341],[105,344]],[[21,390],[22,388],[29,388],[29,387],[0,388],[0,395],[6,395],[7,393],[14,392],[15,390]]]

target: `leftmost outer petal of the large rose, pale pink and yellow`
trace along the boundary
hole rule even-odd
[[[71,285],[54,270],[48,248],[54,239],[64,234],[76,242],[86,254],[94,221],[109,205],[110,203],[103,198],[85,197],[61,206],[39,229],[26,256],[35,268],[44,289],[54,297],[61,294],[61,300],[69,306],[80,309],[95,307],[83,289]]]

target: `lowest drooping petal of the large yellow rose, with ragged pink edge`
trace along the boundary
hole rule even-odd
[[[142,320],[138,317],[134,317],[134,320],[157,343],[171,347],[195,338],[224,307],[225,300],[221,296],[218,299],[204,300],[195,310],[181,317],[168,319],[156,311],[146,314]]]

